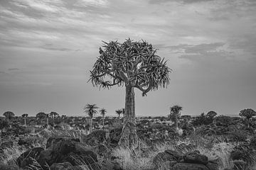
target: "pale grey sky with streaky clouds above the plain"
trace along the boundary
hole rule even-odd
[[[136,93],[137,115],[256,109],[255,0],[1,0],[0,113],[83,115],[124,107],[124,88],[87,83],[102,40],[146,40],[173,72]]]

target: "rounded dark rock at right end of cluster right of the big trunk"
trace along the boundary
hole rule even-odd
[[[199,154],[198,152],[188,152],[183,157],[184,162],[193,163],[193,164],[208,164],[208,157],[203,154]]]

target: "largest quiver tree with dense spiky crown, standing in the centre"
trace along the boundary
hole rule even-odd
[[[90,71],[92,85],[107,89],[111,86],[125,86],[126,89],[124,126],[119,145],[138,145],[134,88],[146,96],[149,91],[169,84],[170,71],[166,61],[161,60],[156,55],[156,49],[146,41],[110,41],[100,47],[100,56]]]

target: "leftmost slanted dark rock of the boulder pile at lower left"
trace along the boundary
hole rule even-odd
[[[43,147],[34,147],[33,149],[29,149],[28,151],[24,152],[16,159],[18,166],[25,168],[29,164],[33,163],[33,159],[37,160],[42,151]]]

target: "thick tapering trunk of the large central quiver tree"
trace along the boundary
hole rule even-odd
[[[125,113],[124,113],[124,126],[122,135],[119,140],[119,145],[122,147],[137,147],[138,136],[136,130],[135,120],[135,94],[134,87],[127,85],[125,94]]]

